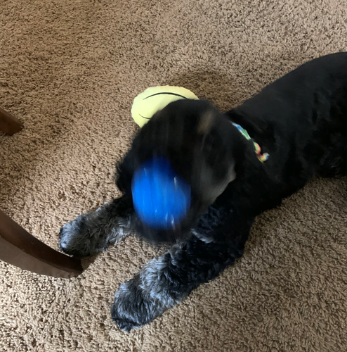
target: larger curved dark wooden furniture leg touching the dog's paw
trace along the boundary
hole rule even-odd
[[[83,271],[77,258],[51,249],[0,210],[0,260],[22,270],[53,277],[75,277]]]

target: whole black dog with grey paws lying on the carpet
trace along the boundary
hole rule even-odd
[[[247,130],[263,153],[230,122]],[[133,172],[160,155],[192,187],[192,207],[179,227],[157,231],[136,217]],[[123,196],[80,215],[60,231],[66,253],[86,256],[136,232],[176,241],[114,298],[112,318],[129,331],[181,302],[242,256],[256,215],[280,205],[312,177],[347,174],[347,53],[301,65],[241,106],[221,114],[206,101],[176,101],[140,130],[118,167]]]

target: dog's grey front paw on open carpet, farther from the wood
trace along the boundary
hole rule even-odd
[[[148,324],[163,312],[159,300],[145,296],[138,286],[138,279],[131,279],[119,287],[111,308],[112,319],[126,332]]]

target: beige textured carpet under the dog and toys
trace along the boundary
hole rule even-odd
[[[64,222],[117,196],[136,94],[180,84],[231,108],[347,51],[346,18],[346,0],[0,1],[0,106],[25,125],[0,135],[0,208],[58,249]],[[347,351],[346,189],[311,182],[233,268],[131,334],[110,305],[150,246],[129,237],[71,280],[0,263],[0,351]]]

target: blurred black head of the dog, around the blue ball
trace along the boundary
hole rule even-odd
[[[243,143],[230,120],[207,101],[179,100],[158,111],[133,140],[119,166],[117,185],[131,194],[133,172],[149,158],[164,156],[189,182],[192,205],[175,229],[155,231],[139,223],[138,232],[154,241],[185,237],[199,216],[235,179],[235,150],[238,146],[242,149]]]

